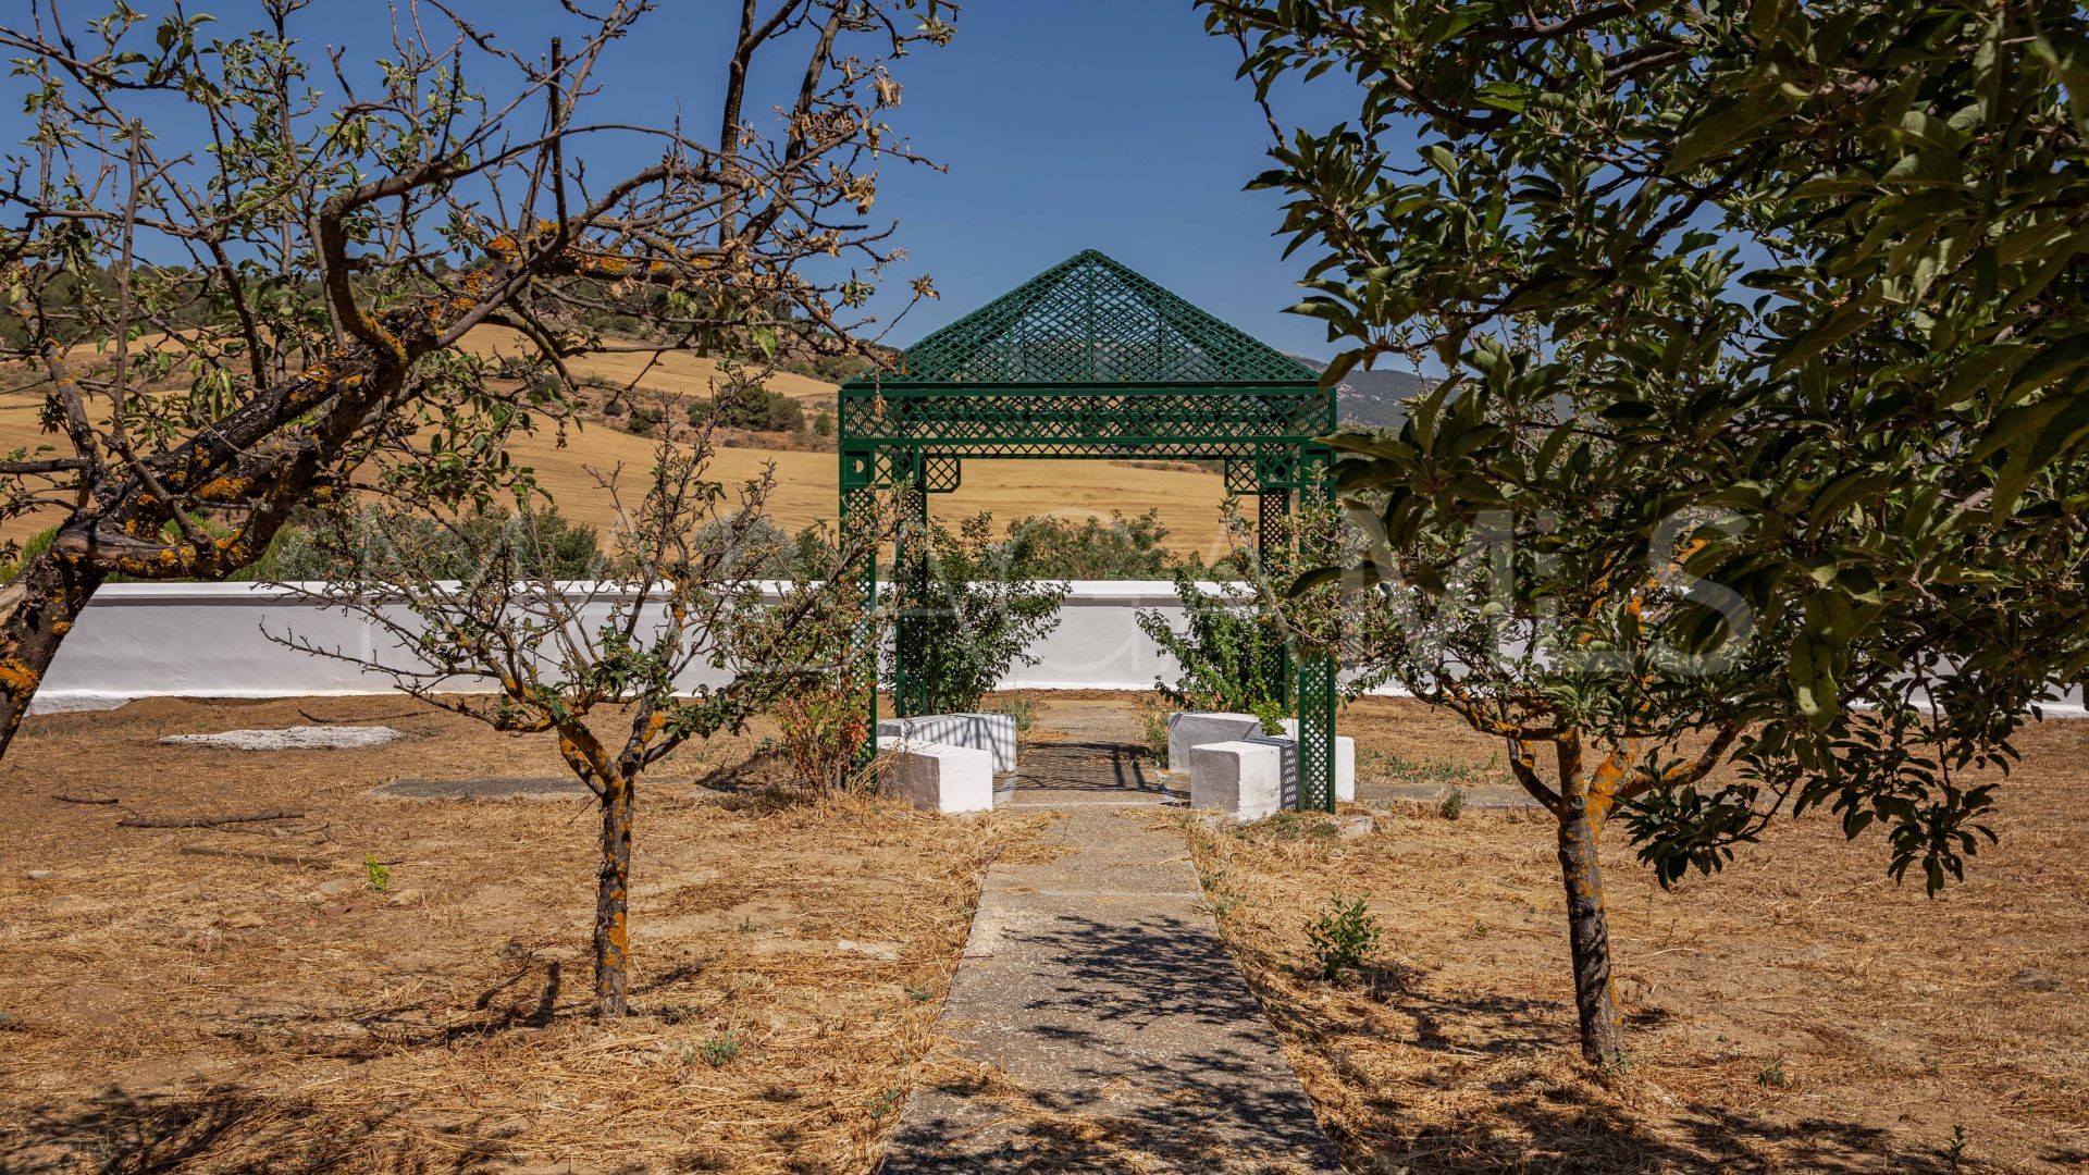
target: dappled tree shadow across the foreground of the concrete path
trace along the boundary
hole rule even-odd
[[[1009,939],[1053,960],[1015,1022],[988,1027],[1022,1027],[1003,1043],[1019,1052],[917,1089],[936,1110],[902,1127],[888,1175],[1339,1171],[1207,926],[1057,916]]]

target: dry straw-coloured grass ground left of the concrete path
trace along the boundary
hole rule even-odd
[[[301,711],[412,738],[157,742]],[[604,1027],[589,801],[372,794],[564,778],[545,738],[382,696],[29,719],[0,767],[0,1171],[869,1171],[1022,822],[691,782],[748,753],[719,740],[641,790],[639,1014]],[[263,809],[303,815],[117,828]]]

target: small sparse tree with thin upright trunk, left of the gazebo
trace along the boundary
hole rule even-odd
[[[591,945],[604,1018],[627,1012],[631,840],[646,771],[777,702],[875,673],[884,625],[848,569],[875,554],[886,529],[863,527],[806,577],[754,579],[750,569],[783,565],[792,546],[762,512],[775,468],[733,489],[706,477],[710,454],[710,427],[671,429],[637,493],[623,468],[597,473],[620,525],[581,583],[558,575],[556,512],[524,506],[491,514],[489,527],[489,512],[451,514],[426,493],[376,510],[338,506],[313,535],[330,556],[328,581],[295,590],[393,646],[370,654],[272,633],[495,730],[558,738],[602,817]],[[827,757],[852,763],[854,751],[831,746]]]

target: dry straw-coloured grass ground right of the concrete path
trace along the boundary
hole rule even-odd
[[[1500,761],[1414,702],[1343,721],[1366,799],[1372,763]],[[1632,1062],[1606,1079],[1577,1062],[1548,815],[1406,805],[1358,840],[1281,822],[1195,855],[1356,1171],[2089,1171],[2089,721],[2020,744],[2001,845],[1934,901],[1828,815],[1673,893],[1613,834]],[[1362,978],[1312,972],[1331,893],[1383,926]]]

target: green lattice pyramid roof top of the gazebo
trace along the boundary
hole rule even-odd
[[[884,383],[1316,385],[1258,343],[1088,249],[907,349]]]

